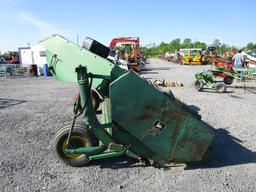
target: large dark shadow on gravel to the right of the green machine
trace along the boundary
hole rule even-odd
[[[188,165],[186,169],[207,169],[232,165],[256,163],[256,152],[242,146],[243,141],[236,138],[225,129],[215,130],[215,139],[212,143],[212,155],[208,162]]]

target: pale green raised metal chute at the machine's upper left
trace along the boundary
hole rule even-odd
[[[86,66],[93,74],[101,74],[107,78],[96,78],[92,88],[102,97],[108,97],[108,87],[111,81],[127,72],[119,66],[84,49],[68,39],[54,34],[40,42],[46,50],[48,69],[56,80],[77,82],[75,68]]]

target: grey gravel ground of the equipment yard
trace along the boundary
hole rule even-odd
[[[179,80],[177,98],[200,108],[216,129],[211,160],[169,169],[128,157],[72,168],[54,159],[51,140],[70,123],[76,84],[52,78],[0,78],[0,191],[256,191],[256,97],[243,89],[197,92],[194,74],[209,66],[150,60],[142,76]]]

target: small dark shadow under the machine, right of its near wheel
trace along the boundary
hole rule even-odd
[[[136,168],[136,167],[147,167],[146,164],[139,162],[136,159],[127,157],[126,155],[120,157],[114,157],[109,159],[101,159],[97,161],[91,161],[86,167],[99,166],[101,169],[122,169],[122,168]]]

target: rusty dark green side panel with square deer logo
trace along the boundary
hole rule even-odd
[[[110,100],[112,120],[138,141],[133,152],[159,164],[200,161],[214,137],[185,104],[133,72],[111,84]]]

